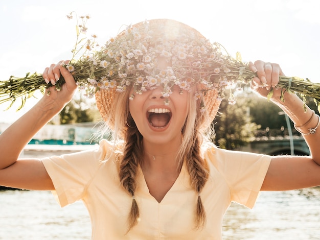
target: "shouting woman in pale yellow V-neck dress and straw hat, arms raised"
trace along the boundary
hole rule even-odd
[[[148,32],[150,26],[154,28]],[[145,65],[139,65],[143,68],[139,73],[144,75],[137,75],[131,84],[127,75],[119,80],[120,74],[113,76],[109,71],[108,77],[120,85],[101,86],[96,93],[98,109],[115,140],[101,140],[96,150],[18,159],[77,88],[64,67],[67,62],[52,64],[45,68],[43,78],[55,85],[62,76],[65,84],[60,91],[54,86],[47,89],[50,94],[44,94],[0,135],[0,185],[52,190],[61,206],[82,200],[92,220],[93,239],[221,239],[223,214],[232,201],[252,208],[260,190],[320,185],[319,117],[308,107],[305,112],[295,94],[285,93],[285,102],[280,100],[281,90],[276,86],[284,74],[278,64],[250,63],[257,74],[251,86],[264,98],[273,88],[271,101],[303,133],[311,156],[271,157],[215,147],[205,133],[221,101],[217,87],[208,89],[202,80],[192,80],[188,87],[187,80],[177,81],[184,68],[173,73],[173,66],[189,64],[188,57],[180,54],[181,49],[178,54],[167,51],[176,46],[189,48],[186,41],[202,42],[203,37],[182,23],[164,19],[150,21],[144,30],[144,36],[133,31],[139,42],[144,41],[143,51],[122,54],[132,40],[117,49],[126,58],[127,69],[134,55],[138,59],[143,54]],[[201,47],[195,49],[199,52],[190,55],[201,63]],[[197,64],[192,69],[200,71]],[[163,72],[165,81],[157,81]],[[140,78],[148,81],[144,84]],[[195,98],[199,92],[205,94]]]

